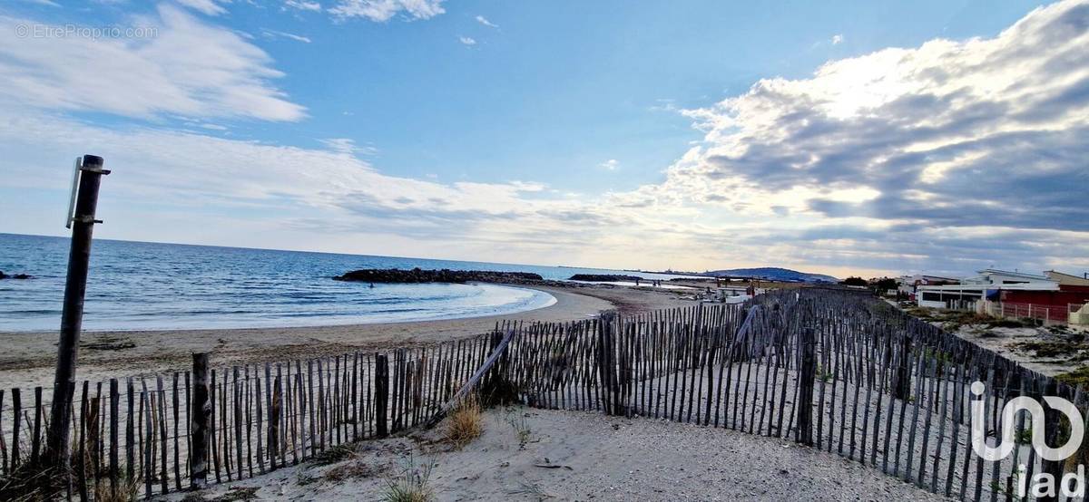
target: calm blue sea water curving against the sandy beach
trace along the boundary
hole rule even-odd
[[[0,234],[0,331],[60,328],[69,239]],[[495,285],[341,283],[357,268],[535,272],[547,279],[615,271],[96,239],[84,329],[325,326],[474,317],[550,305]],[[626,273],[647,278],[673,276]]]

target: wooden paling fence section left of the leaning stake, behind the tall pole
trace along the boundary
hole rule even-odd
[[[503,330],[513,326],[497,326]],[[383,353],[82,381],[72,411],[68,495],[137,498],[188,489],[194,469],[203,472],[193,453],[207,455],[209,482],[249,478],[416,427],[469,379],[497,342],[489,334]],[[49,391],[0,390],[0,493],[11,488],[5,484],[40,470]],[[191,405],[198,393],[207,399],[204,419],[201,406]],[[201,426],[207,444],[195,449]]]

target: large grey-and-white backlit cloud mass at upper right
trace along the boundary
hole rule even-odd
[[[773,192],[880,192],[862,203],[808,201],[830,217],[1089,230],[1089,77],[1077,78],[1089,70],[1087,26],[1089,5],[1065,2],[996,39],[841,61],[810,80],[761,81],[715,109],[730,120],[709,135],[700,176]],[[867,73],[889,59],[886,74]],[[844,87],[854,73],[864,80]],[[868,85],[877,104],[865,104]],[[856,110],[837,112],[856,98]]]

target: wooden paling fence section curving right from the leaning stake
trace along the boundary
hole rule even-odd
[[[1062,397],[1089,421],[1089,396],[846,291],[535,325],[510,352],[499,371],[530,405],[786,438],[960,500],[1018,499],[1021,480],[1049,473],[1057,481],[1089,452],[1084,441],[1067,462],[1043,461],[1029,444],[1043,431],[1019,413],[1012,455],[984,462],[971,448],[974,404],[995,447],[1010,400]],[[978,394],[976,381],[984,384]],[[1065,442],[1057,412],[1044,423],[1048,444]]]

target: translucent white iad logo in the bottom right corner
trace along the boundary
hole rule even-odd
[[[982,381],[976,381],[971,385],[971,393],[976,397],[983,396],[987,390]],[[1081,412],[1078,411],[1074,403],[1055,396],[1044,396],[1044,402],[1048,403],[1053,410],[1061,412],[1066,415],[1067,421],[1070,426],[1070,436],[1066,440],[1066,443],[1059,448],[1051,448],[1045,442],[1047,431],[1044,429],[1044,417],[1043,417],[1043,405],[1039,401],[1028,398],[1019,397],[1011,399],[1006,402],[1005,406],[1002,407],[1002,431],[999,437],[998,447],[991,447],[987,444],[987,426],[986,426],[986,411],[983,410],[983,400],[977,399],[971,402],[971,449],[977,455],[989,462],[996,462],[1005,459],[1013,452],[1014,448],[1017,445],[1016,434],[1017,434],[1017,414],[1025,411],[1031,416],[1031,429],[1033,431],[1039,431],[1039,434],[1032,435],[1032,449],[1036,450],[1036,454],[1040,455],[1041,459],[1062,462],[1070,457],[1078,451],[1078,447],[1081,445],[1081,438],[1085,436],[1085,422],[1081,419]],[[1025,466],[1020,466],[1021,473],[1025,472]],[[1067,497],[1081,497],[1085,493],[1085,470],[1082,466],[1078,466],[1078,473],[1068,473],[1063,477],[1062,489],[1063,494]],[[1077,476],[1077,479],[1067,480],[1067,476]],[[1027,492],[1026,479],[1021,478],[1018,480],[1018,494],[1025,497]],[[1067,488],[1070,482],[1075,481],[1077,489],[1075,493],[1066,493]],[[1054,497],[1055,491],[1055,479],[1054,476],[1048,473],[1039,473],[1032,476],[1032,493],[1036,497]]]

